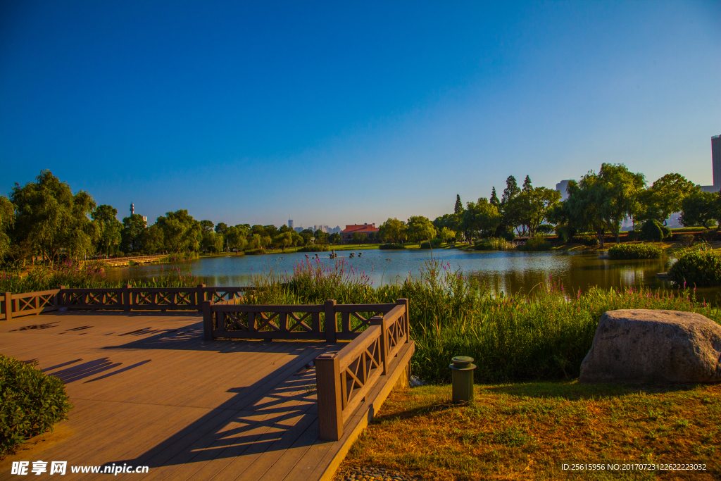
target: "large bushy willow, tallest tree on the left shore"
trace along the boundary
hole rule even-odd
[[[89,193],[73,194],[66,182],[43,170],[35,182],[16,184],[9,200],[16,209],[17,242],[27,239],[51,264],[62,249],[75,257],[92,253],[99,229],[90,219],[95,201]]]

